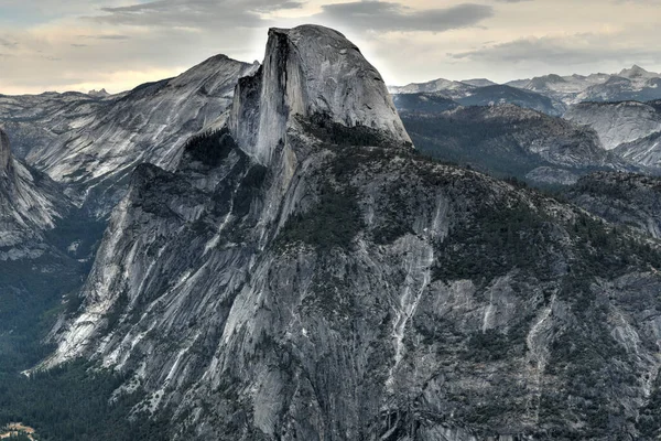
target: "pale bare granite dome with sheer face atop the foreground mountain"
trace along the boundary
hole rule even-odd
[[[229,127],[241,148],[268,163],[292,117],[323,115],[347,127],[411,140],[377,69],[337,31],[271,29],[262,68],[239,82]]]

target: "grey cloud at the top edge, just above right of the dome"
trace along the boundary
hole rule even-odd
[[[354,30],[370,31],[431,31],[474,26],[494,15],[494,8],[485,4],[460,3],[443,9],[413,10],[400,3],[386,1],[356,1],[326,4],[316,17],[342,23]]]

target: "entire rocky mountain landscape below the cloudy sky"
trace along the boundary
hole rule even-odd
[[[0,313],[35,297],[21,282],[47,288],[0,322],[20,362],[0,361],[0,423],[61,440],[659,437],[658,179],[629,173],[657,165],[621,153],[653,144],[658,104],[560,118],[489,100],[532,89],[453,90],[391,97],[355,44],[304,25],[271,29],[262,64],[0,97],[0,256],[32,271],[0,265]]]

